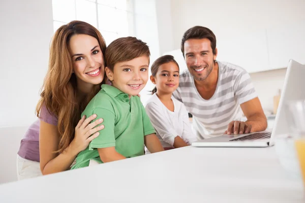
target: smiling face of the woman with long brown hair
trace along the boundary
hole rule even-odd
[[[78,87],[97,85],[103,81],[104,56],[96,38],[74,35],[70,39],[69,51]]]

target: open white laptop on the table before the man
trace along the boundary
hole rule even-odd
[[[285,104],[290,100],[305,99],[305,65],[289,60],[279,107],[272,132],[227,135],[193,142],[195,147],[268,147],[274,145],[278,134],[288,133]]]

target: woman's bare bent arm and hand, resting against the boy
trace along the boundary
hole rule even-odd
[[[84,150],[93,139],[98,137],[98,130],[104,128],[103,125],[95,127],[103,121],[97,120],[90,123],[95,118],[93,115],[87,119],[83,117],[79,121],[75,127],[75,137],[63,153],[54,153],[54,151],[58,150],[59,144],[57,126],[40,121],[39,152],[40,170],[43,175],[69,170],[77,154]],[[91,136],[92,134],[93,136]]]

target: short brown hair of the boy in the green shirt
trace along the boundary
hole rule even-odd
[[[149,48],[145,42],[135,37],[118,38],[106,48],[105,60],[107,67],[113,72],[115,63],[129,61],[146,55],[150,56]]]

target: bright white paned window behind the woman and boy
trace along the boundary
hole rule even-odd
[[[52,7],[54,32],[72,20],[81,20],[100,30],[107,45],[134,35],[131,0],[52,0]]]

